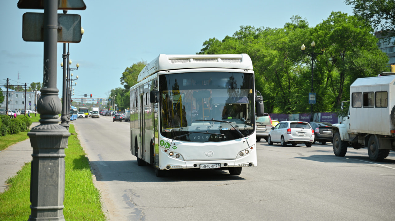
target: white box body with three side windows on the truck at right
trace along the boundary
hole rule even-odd
[[[387,92],[387,102],[380,94]],[[353,107],[353,93],[355,96],[361,94],[362,104]],[[350,124],[349,133],[369,133],[392,135],[391,130],[395,129],[391,123],[391,110],[395,105],[395,75],[380,77],[359,78],[350,86]],[[368,94],[374,96],[374,99],[368,100]],[[380,98],[386,107],[380,107]],[[354,99],[355,106],[355,99]],[[360,106],[360,107],[359,107]],[[355,117],[356,116],[356,117]]]

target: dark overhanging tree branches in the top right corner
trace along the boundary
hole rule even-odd
[[[394,0],[345,0],[347,5],[354,5],[354,14],[369,20],[377,31],[385,32],[389,37],[395,36],[395,1]]]

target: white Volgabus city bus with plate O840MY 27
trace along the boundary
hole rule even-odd
[[[256,163],[252,61],[240,55],[160,54],[130,88],[130,151],[137,164],[221,169],[240,175]],[[257,114],[255,114],[255,109]]]

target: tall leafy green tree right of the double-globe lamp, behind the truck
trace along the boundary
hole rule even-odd
[[[349,99],[350,85],[359,77],[372,77],[388,70],[388,57],[377,46],[378,39],[366,20],[332,12],[313,29],[317,45],[325,48],[317,68],[323,75],[317,82],[331,91],[333,107]]]

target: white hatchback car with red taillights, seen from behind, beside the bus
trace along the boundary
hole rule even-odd
[[[305,144],[311,147],[314,142],[314,130],[307,122],[282,121],[272,128],[267,136],[269,145],[280,143],[282,146]]]

